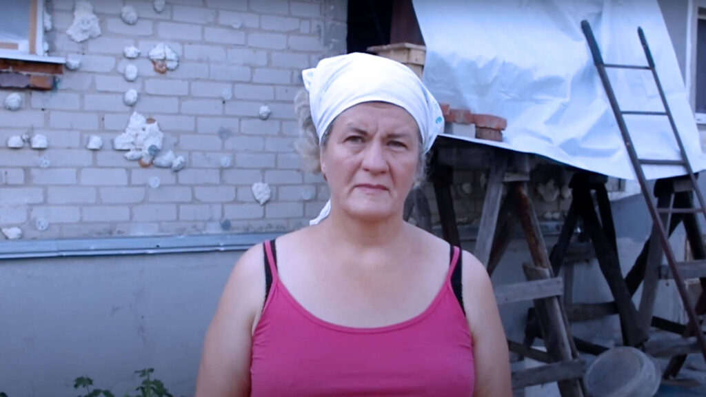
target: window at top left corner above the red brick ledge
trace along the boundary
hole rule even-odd
[[[44,1],[0,0],[0,57],[44,55]]]

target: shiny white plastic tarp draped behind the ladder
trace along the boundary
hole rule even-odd
[[[656,0],[414,0],[414,8],[426,42],[424,83],[436,99],[508,120],[502,143],[456,137],[624,179],[635,174],[581,21],[609,64],[647,64],[641,26],[690,163],[706,168]],[[609,77],[623,110],[663,111],[650,71],[611,69]],[[666,117],[626,116],[626,123],[640,158],[679,159]],[[684,173],[645,167],[648,179]]]

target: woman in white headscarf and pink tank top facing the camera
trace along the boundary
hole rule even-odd
[[[406,66],[368,54],[303,77],[298,147],[330,201],[311,227],[241,256],[196,396],[511,396],[485,268],[402,220],[443,128],[438,103]]]

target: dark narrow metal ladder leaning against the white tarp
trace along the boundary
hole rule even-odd
[[[654,67],[654,59],[652,59],[652,53],[650,52],[650,47],[647,46],[647,40],[645,39],[645,33],[642,32],[642,28],[638,28],[638,36],[640,37],[640,42],[642,43],[642,49],[645,50],[645,57],[647,58],[647,66],[633,66],[633,65],[618,65],[618,64],[606,64],[603,61],[600,49],[598,48],[596,39],[591,30],[590,24],[583,20],[581,22],[581,28],[586,40],[588,42],[588,47],[591,49],[591,54],[593,57],[594,64],[598,70],[598,74],[601,78],[603,86],[606,90],[606,95],[613,108],[613,112],[618,122],[618,128],[620,129],[621,136],[625,142],[626,149],[628,150],[628,155],[630,157],[630,162],[633,164],[633,169],[635,170],[635,175],[638,177],[638,182],[640,182],[640,188],[642,189],[642,195],[645,198],[645,203],[647,203],[647,209],[650,211],[653,222],[653,230],[656,231],[656,235],[659,237],[659,243],[662,246],[664,255],[666,256],[666,261],[669,264],[669,269],[674,277],[674,282],[676,283],[676,288],[679,292],[679,296],[683,302],[684,308],[686,309],[686,314],[689,320],[689,327],[696,336],[696,342],[701,350],[701,353],[706,360],[706,339],[704,338],[704,333],[701,330],[701,325],[699,317],[696,314],[694,305],[692,304],[686,285],[684,283],[683,277],[680,273],[680,266],[686,266],[686,268],[702,268],[706,270],[706,261],[688,261],[688,262],[678,262],[674,256],[674,250],[669,243],[668,231],[665,229],[666,225],[670,224],[671,214],[702,214],[706,220],[706,201],[701,194],[701,191],[696,182],[696,176],[689,164],[689,160],[686,156],[686,150],[681,141],[681,137],[676,130],[676,124],[674,124],[674,118],[672,117],[671,111],[669,110],[669,105],[666,102],[666,97],[664,96],[664,90],[662,90],[662,83],[659,82],[659,76],[657,76],[657,71]],[[641,112],[641,111],[626,111],[622,110],[618,105],[618,100],[611,86],[611,82],[606,73],[606,69],[641,69],[649,70],[652,72],[652,77],[654,78],[654,83],[657,85],[657,90],[659,90],[659,97],[662,99],[662,105],[664,106],[664,112]],[[642,116],[666,116],[669,118],[669,124],[671,125],[671,130],[674,133],[674,138],[676,138],[676,143],[679,147],[679,153],[681,155],[681,160],[654,160],[654,159],[644,159],[638,158],[638,153],[635,151],[633,146],[633,141],[628,133],[628,127],[626,126],[624,115],[642,115]],[[645,179],[645,172],[642,170],[643,165],[678,165],[686,169],[686,174],[688,175],[688,182],[690,182],[690,189],[696,194],[698,198],[699,208],[657,208],[652,197],[650,196],[650,189],[647,186],[647,179]]]

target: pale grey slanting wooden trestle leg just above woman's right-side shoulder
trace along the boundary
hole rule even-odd
[[[488,266],[491,248],[493,247],[500,201],[503,198],[503,175],[507,166],[508,160],[505,155],[501,152],[496,152],[496,155],[491,159],[490,169],[488,170],[488,186],[486,187],[481,221],[478,226],[478,238],[473,250],[474,256],[485,266]]]

